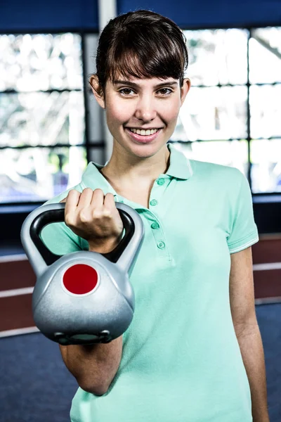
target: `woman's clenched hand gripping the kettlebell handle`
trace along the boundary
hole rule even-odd
[[[105,196],[101,189],[85,188],[82,193],[72,189],[65,202],[65,224],[89,243],[89,250],[110,252],[122,237],[124,225],[112,193]]]

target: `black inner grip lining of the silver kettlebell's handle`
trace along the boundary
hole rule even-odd
[[[30,237],[32,238],[34,245],[39,250],[41,257],[43,257],[47,265],[53,264],[53,262],[57,261],[63,255],[55,255],[53,252],[51,252],[51,250],[48,250],[46,245],[39,237],[39,234],[47,224],[65,221],[65,204],[62,203],[61,205],[62,208],[58,210],[48,210],[37,215],[37,217],[34,218],[32,224],[30,225]],[[117,262],[119,260],[119,257],[122,255],[122,252],[128,245],[135,231],[135,224],[131,215],[129,215],[128,212],[124,210],[120,210],[118,208],[117,210],[119,211],[119,215],[124,224],[124,238],[122,238],[122,241],[118,243],[114,250],[100,254],[111,262]]]

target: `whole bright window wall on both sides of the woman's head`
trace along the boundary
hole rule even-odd
[[[192,87],[171,138],[237,167],[252,193],[281,192],[281,27],[187,30]],[[87,87],[98,34],[0,35],[0,203],[44,202],[105,162]]]

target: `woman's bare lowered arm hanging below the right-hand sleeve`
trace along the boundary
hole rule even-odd
[[[253,422],[269,422],[266,367],[254,303],[251,247],[230,257],[230,309],[249,379]]]

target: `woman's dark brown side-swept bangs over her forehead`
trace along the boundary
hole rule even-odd
[[[138,29],[140,31],[140,29]],[[127,33],[126,33],[127,32]],[[183,78],[185,70],[185,51],[166,36],[165,39],[155,39],[149,34],[143,36],[141,31],[133,36],[126,31],[118,42],[113,41],[107,54],[106,79],[114,81],[122,76],[166,79]],[[163,33],[162,33],[163,37]]]

